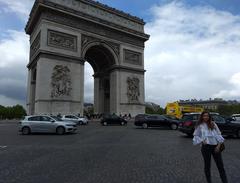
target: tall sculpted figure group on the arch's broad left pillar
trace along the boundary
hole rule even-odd
[[[70,96],[72,90],[70,69],[67,66],[56,65],[53,68],[51,81],[51,97]]]

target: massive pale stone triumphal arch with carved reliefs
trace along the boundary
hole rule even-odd
[[[144,113],[144,24],[92,0],[36,0],[25,29],[28,114],[83,114],[86,61],[96,113]]]

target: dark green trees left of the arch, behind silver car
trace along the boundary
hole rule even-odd
[[[0,119],[20,119],[26,116],[26,110],[21,105],[4,107],[0,105]]]

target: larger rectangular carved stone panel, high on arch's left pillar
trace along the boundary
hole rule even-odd
[[[77,51],[77,36],[48,30],[48,46]]]

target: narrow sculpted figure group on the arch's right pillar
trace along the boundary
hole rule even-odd
[[[140,96],[140,88],[139,88],[140,80],[136,77],[128,77],[127,78],[127,96],[129,103],[138,103]]]

